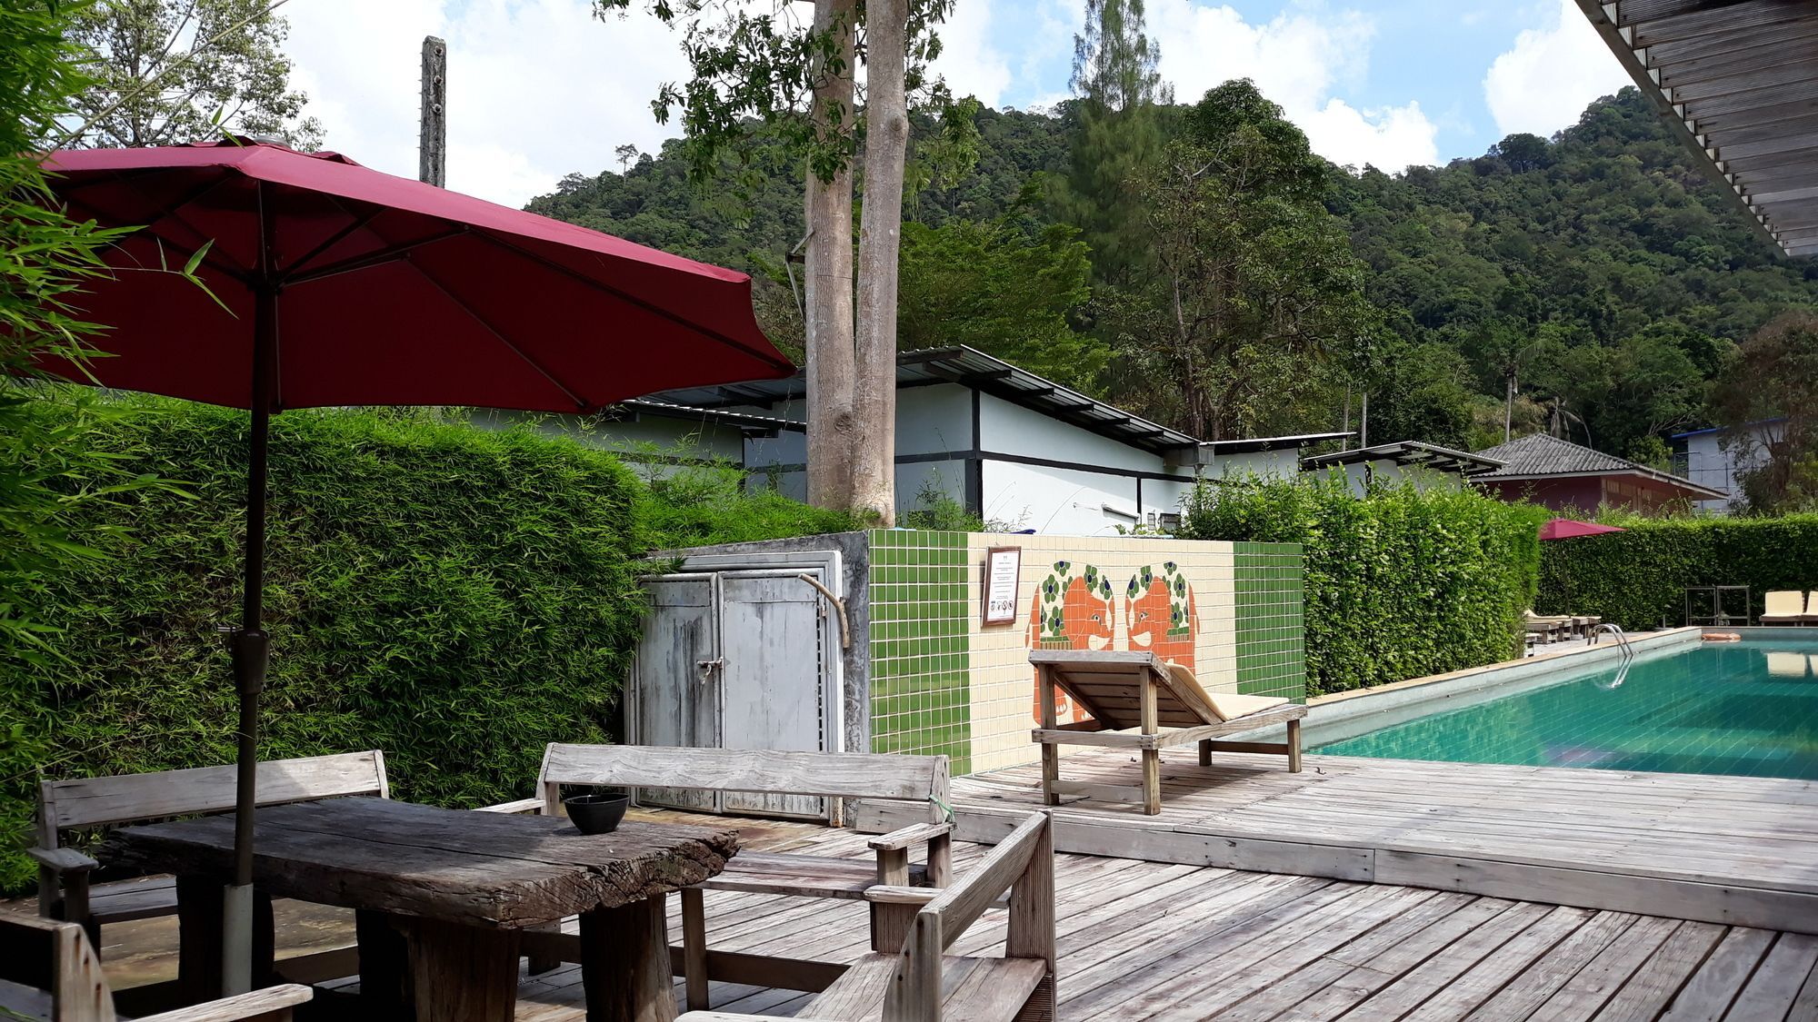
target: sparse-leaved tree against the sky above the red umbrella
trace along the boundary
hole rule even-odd
[[[75,100],[82,145],[173,145],[222,131],[315,149],[284,55],[289,22],[269,0],[98,0],[73,5],[69,36],[102,60]]]

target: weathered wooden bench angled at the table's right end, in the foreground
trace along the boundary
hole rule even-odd
[[[944,891],[873,887],[873,902],[920,906],[902,947],[860,958],[796,1018],[811,1022],[1051,1020],[1054,1017],[1054,824],[1034,813]],[[1009,891],[1002,958],[945,955]],[[676,1022],[747,1022],[689,1011]]]

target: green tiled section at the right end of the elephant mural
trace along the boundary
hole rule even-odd
[[[1300,544],[1233,544],[1238,693],[1307,698]]]

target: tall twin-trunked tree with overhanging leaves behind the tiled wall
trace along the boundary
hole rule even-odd
[[[631,2],[594,0],[594,11],[604,16]],[[787,4],[769,13],[707,4],[678,11],[669,0],[649,0],[658,18],[684,24],[682,51],[694,76],[664,85],[653,105],[660,120],[682,113],[694,180],[718,173],[727,155],[736,158],[758,136],[780,140],[807,164],[809,500],[882,524],[896,515],[896,264],[909,96],[929,87],[945,98],[925,73],[940,53],[933,29],[951,7],[953,0],[816,0],[813,20],[802,24]],[[858,64],[865,65],[862,125]],[[954,115],[953,131],[964,136],[965,124]],[[853,167],[860,156],[865,204],[854,296]]]

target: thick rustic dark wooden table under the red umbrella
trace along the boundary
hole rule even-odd
[[[191,977],[213,973],[213,986],[233,827],[220,815],[116,835],[131,862],[176,875],[180,958]],[[524,933],[578,915],[589,1022],[665,1022],[665,895],[718,875],[738,835],[640,820],[582,835],[560,817],[327,798],[258,809],[255,849],[262,900],[355,909],[362,998],[396,1017],[507,1022]],[[269,937],[258,953],[269,955]]]

